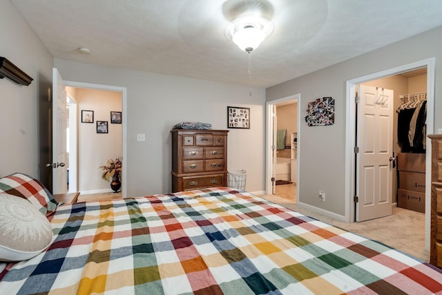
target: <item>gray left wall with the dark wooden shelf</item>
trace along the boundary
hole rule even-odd
[[[30,75],[30,86],[0,79],[0,175],[17,171],[38,176],[39,99],[48,99],[52,55],[10,1],[0,1],[0,55]],[[44,115],[48,115],[47,113]]]

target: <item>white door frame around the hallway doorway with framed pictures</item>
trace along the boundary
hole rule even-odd
[[[123,144],[123,159],[127,159],[127,144],[126,144],[126,135],[127,135],[127,88],[120,86],[111,86],[104,84],[92,84],[92,83],[84,83],[84,82],[75,82],[75,81],[67,81],[64,83],[66,86],[70,86],[73,88],[88,88],[102,91],[117,91],[122,93],[122,144]],[[127,161],[126,161],[127,162]],[[126,175],[127,175],[127,165],[122,165],[122,198],[126,198],[127,196],[127,183],[126,183]]]

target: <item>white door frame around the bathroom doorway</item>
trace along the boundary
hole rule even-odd
[[[297,125],[298,125],[298,141],[300,139],[300,115],[299,115],[299,111],[300,111],[300,99],[301,99],[301,95],[300,93],[298,94],[294,94],[294,95],[289,95],[286,97],[281,97],[275,100],[272,100],[271,102],[266,102],[266,150],[265,150],[265,155],[266,155],[266,173],[265,173],[265,191],[268,195],[271,195],[272,190],[271,190],[271,167],[272,167],[272,157],[271,157],[271,143],[272,143],[272,138],[273,138],[273,130],[271,129],[271,122],[273,120],[272,116],[273,116],[273,111],[272,108],[274,105],[277,104],[281,104],[283,102],[289,102],[289,101],[298,101],[298,109],[297,111]],[[300,151],[300,144],[298,143],[298,149],[297,149],[297,153],[299,155],[299,151]],[[299,157],[297,157],[298,159],[298,165],[296,167],[296,169],[299,169],[299,162],[300,159]],[[299,178],[299,171],[298,173],[296,173],[296,177]],[[298,196],[299,194],[299,182],[298,180],[296,181],[296,196]],[[296,198],[296,202],[298,202],[298,198]]]

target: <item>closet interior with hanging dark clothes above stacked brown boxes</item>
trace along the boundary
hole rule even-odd
[[[397,202],[398,207],[423,212],[427,69],[383,77],[364,82],[364,85],[394,91],[392,158],[396,159],[396,165],[392,167],[392,201]]]

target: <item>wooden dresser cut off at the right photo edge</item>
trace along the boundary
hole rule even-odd
[[[430,263],[442,267],[442,135],[432,142]]]

